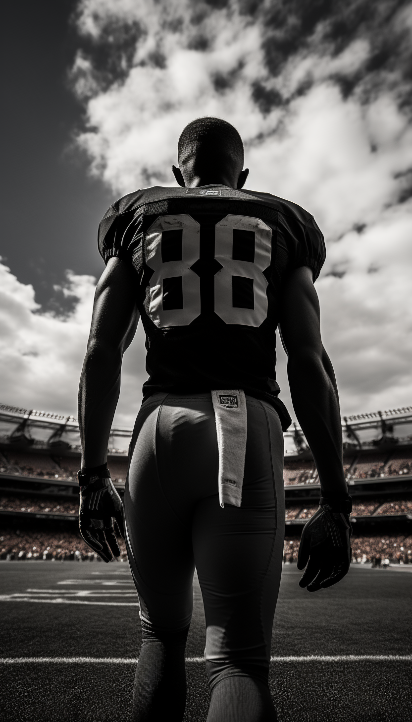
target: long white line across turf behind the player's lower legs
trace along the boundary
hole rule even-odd
[[[125,657],[0,657],[0,664],[137,664]],[[411,662],[412,654],[312,654],[271,657],[271,662]],[[204,662],[204,657],[185,657],[186,664]]]

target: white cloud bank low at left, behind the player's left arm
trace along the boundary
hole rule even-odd
[[[76,299],[64,318],[40,313],[31,285],[20,283],[0,263],[0,399],[38,410],[76,414],[95,279],[68,274],[67,295]],[[133,425],[146,378],[142,332],[126,352],[115,423]],[[139,383],[140,382],[140,383]]]

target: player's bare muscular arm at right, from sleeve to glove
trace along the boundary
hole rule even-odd
[[[346,497],[338,388],[320,337],[319,300],[307,266],[293,271],[286,282],[280,330],[292,403],[315,459],[322,495]]]

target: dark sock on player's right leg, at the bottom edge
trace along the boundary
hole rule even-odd
[[[269,687],[247,676],[224,677],[211,693],[207,722],[276,722]]]

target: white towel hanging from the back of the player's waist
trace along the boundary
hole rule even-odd
[[[245,392],[211,391],[219,449],[219,503],[240,506],[247,436]]]

